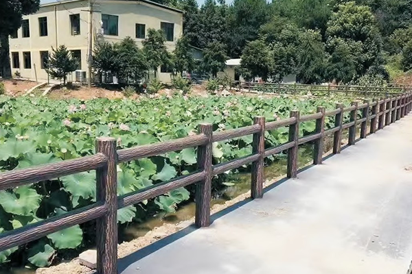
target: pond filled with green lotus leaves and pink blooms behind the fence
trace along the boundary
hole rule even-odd
[[[91,155],[98,136],[117,138],[120,149],[190,136],[196,134],[196,126],[201,122],[213,123],[214,130],[221,131],[251,125],[256,115],[273,121],[288,117],[289,110],[293,109],[301,110],[301,114],[315,112],[318,105],[334,109],[336,101],[347,105],[350,99],[179,96],[141,98],[138,101],[55,101],[37,97],[0,97],[0,169],[9,171]],[[333,123],[333,117],[325,120],[328,127],[332,127]],[[314,121],[301,123],[301,136],[312,133],[314,127]],[[287,141],[288,129],[284,127],[266,132],[265,136],[266,147],[279,145]],[[214,143],[214,164],[249,155],[251,142],[252,136],[245,136]],[[266,158],[266,165],[278,163],[284,157],[284,154],[279,154]],[[240,194],[242,187],[236,188],[236,185],[246,181],[233,178],[247,173],[249,169],[249,166],[244,166],[214,177],[215,197],[230,199]],[[119,164],[117,192],[124,195],[195,170],[194,148]],[[238,190],[228,195],[233,189]],[[130,223],[139,225],[159,212],[175,212],[190,204],[193,196],[194,187],[189,186],[123,208],[118,212],[119,225],[123,228],[130,227]],[[0,233],[65,214],[93,201],[94,172],[0,191]],[[0,262],[39,267],[73,258],[94,245],[93,229],[93,222],[63,229],[27,245],[1,252]],[[127,236],[120,238],[128,239]]]

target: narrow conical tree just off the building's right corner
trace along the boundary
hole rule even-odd
[[[183,71],[190,71],[194,69],[194,59],[192,51],[189,46],[189,40],[183,36],[176,42],[174,54],[174,69],[176,72],[183,74]]]

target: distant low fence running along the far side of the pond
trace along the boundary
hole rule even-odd
[[[254,83],[254,82],[233,82],[238,90],[261,91],[267,93],[287,93],[299,94],[300,92],[344,92],[361,95],[400,95],[412,91],[409,85],[389,84],[389,86],[349,86],[349,85],[308,85],[308,84],[275,84],[275,83]]]

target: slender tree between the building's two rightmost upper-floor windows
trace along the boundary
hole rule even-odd
[[[143,51],[148,66],[155,71],[155,77],[157,77],[159,66],[170,63],[170,54],[166,49],[165,42],[165,34],[161,29],[148,29],[148,36],[143,41]]]

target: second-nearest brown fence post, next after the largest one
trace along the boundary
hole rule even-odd
[[[208,227],[210,225],[210,199],[211,199],[211,140],[213,127],[210,123],[198,125],[198,133],[207,136],[206,145],[198,147],[197,166],[205,171],[205,179],[196,184],[196,212],[194,223],[197,227]]]

